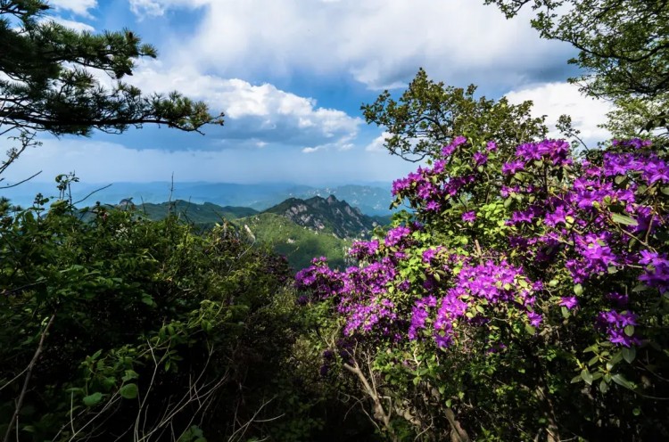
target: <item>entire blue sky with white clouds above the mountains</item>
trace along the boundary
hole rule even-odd
[[[205,135],[145,126],[122,135],[42,136],[5,172],[11,184],[75,172],[82,182],[389,183],[416,165],[384,150],[362,103],[399,96],[423,67],[488,98],[533,100],[549,125],[568,113],[596,143],[609,110],[579,94],[567,44],[541,40],[529,16],[483,0],[50,0],[79,31],[132,29],[158,49],[128,83],[178,90],[224,112]],[[105,78],[103,78],[105,81]]]

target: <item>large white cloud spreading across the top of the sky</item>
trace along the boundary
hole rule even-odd
[[[132,1],[161,13],[206,5],[175,59],[226,77],[344,73],[376,89],[400,87],[424,66],[450,84],[508,87],[559,76],[572,54],[541,40],[527,13],[505,20],[472,0]]]

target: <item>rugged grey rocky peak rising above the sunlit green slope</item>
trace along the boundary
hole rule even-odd
[[[341,239],[364,236],[378,225],[372,217],[346,201],[337,200],[334,195],[327,198],[315,196],[309,200],[289,198],[264,213],[286,217],[315,232],[334,233]]]

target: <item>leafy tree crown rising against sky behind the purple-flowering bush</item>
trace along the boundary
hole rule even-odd
[[[435,83],[420,69],[399,102],[386,90],[361,110],[368,123],[385,127],[385,147],[405,160],[419,161],[437,155],[457,135],[480,141],[496,140],[515,146],[547,134],[543,118],[530,116],[532,102],[509,104],[475,98],[476,86],[467,89]]]

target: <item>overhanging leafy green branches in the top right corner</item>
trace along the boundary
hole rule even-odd
[[[659,129],[669,134],[669,2],[666,0],[485,0],[508,18],[525,5],[541,37],[579,50],[569,62],[582,91],[615,102],[614,135]],[[664,129],[664,130],[663,130]]]

